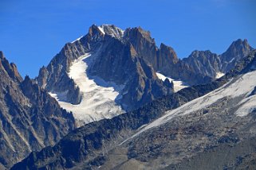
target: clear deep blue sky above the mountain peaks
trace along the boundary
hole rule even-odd
[[[34,77],[90,25],[141,26],[179,58],[222,53],[238,38],[256,48],[254,0],[0,0],[0,50]]]

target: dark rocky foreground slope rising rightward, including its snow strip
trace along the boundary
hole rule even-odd
[[[254,169],[255,69],[256,51],[215,82],[82,126],[12,169]]]

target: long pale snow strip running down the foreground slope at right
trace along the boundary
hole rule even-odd
[[[175,110],[167,111],[167,113],[163,117],[158,118],[156,119],[156,121],[150,123],[148,126],[145,126],[132,137],[136,137],[147,129],[161,126],[164,123],[169,122],[172,118],[196,113],[197,111],[203,110],[204,108],[207,108],[207,106],[211,106],[215,102],[224,98],[235,99],[242,97],[243,100],[237,103],[234,102],[234,106],[232,107],[234,108],[238,106],[238,110],[236,110],[234,113],[237,116],[246,116],[247,114],[250,114],[253,110],[256,109],[256,97],[255,95],[250,96],[251,92],[254,91],[255,87],[256,71],[250,71],[245,75],[240,75],[238,78],[230,80],[230,82],[226,83],[226,85],[224,85],[223,87],[220,87],[215,91],[211,91],[211,93],[208,93],[207,95],[192,100],[191,102],[187,102],[186,104],[184,104],[183,106],[179,106]],[[128,138],[126,141],[128,141],[130,138]]]

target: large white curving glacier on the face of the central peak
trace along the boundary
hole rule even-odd
[[[81,90],[82,100],[78,105],[64,102],[66,93],[50,93],[57,99],[61,107],[72,111],[79,124],[98,121],[103,118],[112,118],[124,113],[121,106],[116,103],[123,86],[105,82],[96,76],[90,76],[86,72],[89,64],[96,54],[86,54],[78,60],[74,60],[69,70],[69,77],[74,80]],[[78,125],[78,126],[81,126]]]

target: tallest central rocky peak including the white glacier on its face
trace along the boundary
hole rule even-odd
[[[132,44],[144,37],[148,43],[148,35],[143,29],[123,31],[114,25],[92,25],[85,37],[65,44],[50,64],[41,68],[37,82],[61,106],[73,111],[77,122],[84,123],[112,118],[170,95],[172,83],[159,79]]]

